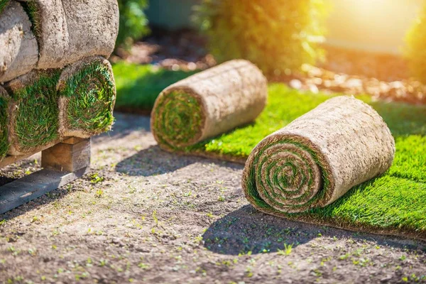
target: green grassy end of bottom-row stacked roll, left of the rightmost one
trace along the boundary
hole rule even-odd
[[[59,138],[58,94],[56,84],[60,70],[49,70],[38,80],[11,93],[18,103],[16,111],[16,141],[22,151],[32,151]]]

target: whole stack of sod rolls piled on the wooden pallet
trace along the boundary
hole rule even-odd
[[[0,159],[114,121],[116,0],[0,0]]]

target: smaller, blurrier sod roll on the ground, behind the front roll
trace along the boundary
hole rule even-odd
[[[161,148],[179,150],[254,121],[267,97],[261,70],[231,60],[164,89],[151,113],[151,129]]]

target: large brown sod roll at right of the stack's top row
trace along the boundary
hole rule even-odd
[[[114,50],[119,29],[116,0],[20,0],[38,39],[38,69],[62,68]]]

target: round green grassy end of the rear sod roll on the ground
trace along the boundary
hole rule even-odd
[[[160,133],[160,142],[170,148],[182,148],[196,143],[202,135],[203,114],[200,99],[175,90],[158,100],[153,131]]]

